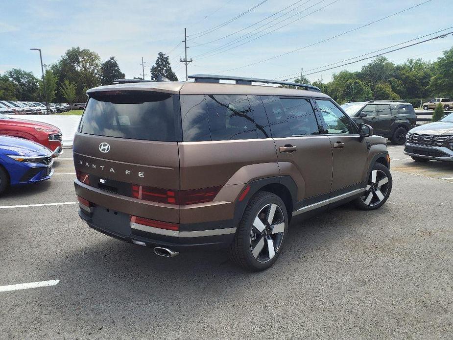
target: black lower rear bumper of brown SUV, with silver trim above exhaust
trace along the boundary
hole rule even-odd
[[[103,207],[99,207],[104,209]],[[114,212],[115,213],[115,212]],[[135,228],[128,228],[126,225],[115,226],[115,222],[107,221],[105,223],[96,223],[93,218],[93,213],[86,211],[85,209],[80,208],[78,211],[80,218],[85,221],[90,228],[95,229],[105,235],[114,237],[124,242],[134,243],[134,241],[139,241],[145,243],[147,247],[163,246],[171,248],[172,250],[184,250],[190,248],[199,248],[207,247],[213,249],[220,249],[227,247],[234,238],[234,232],[236,228],[230,229],[211,229],[211,230],[200,230],[192,231],[195,235],[191,237],[189,234],[179,235],[181,233],[190,233],[190,232],[175,232],[178,233],[178,236],[167,236],[155,234]],[[114,215],[115,216],[115,215]],[[116,215],[118,216],[118,215]],[[126,223],[124,219],[119,223]],[[123,230],[123,232],[119,231]],[[196,234],[198,232],[198,234]],[[208,235],[200,236],[209,233],[221,233],[218,235]],[[224,234],[226,233],[226,234]]]

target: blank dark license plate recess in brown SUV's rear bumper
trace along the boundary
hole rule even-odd
[[[128,214],[95,206],[91,220],[95,226],[117,235],[129,236],[131,234],[131,218]]]

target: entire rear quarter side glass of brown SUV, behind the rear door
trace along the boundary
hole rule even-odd
[[[259,96],[181,96],[185,142],[268,138],[268,121]]]

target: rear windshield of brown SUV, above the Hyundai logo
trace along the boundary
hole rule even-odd
[[[175,142],[173,97],[162,93],[95,94],[88,100],[79,132],[90,135]]]

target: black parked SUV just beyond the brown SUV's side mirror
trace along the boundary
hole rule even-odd
[[[374,132],[403,145],[407,131],[415,126],[417,115],[411,103],[397,100],[348,102],[341,108],[357,123],[368,124]]]

